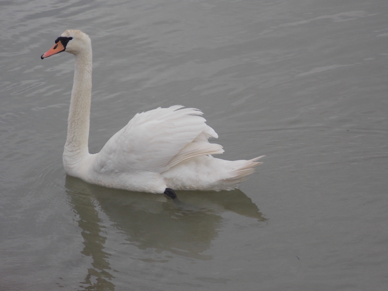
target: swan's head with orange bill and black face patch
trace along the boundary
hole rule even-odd
[[[92,44],[89,36],[79,30],[66,30],[55,40],[55,45],[45,52],[40,58],[43,60],[49,56],[67,51],[74,55],[91,50]]]

